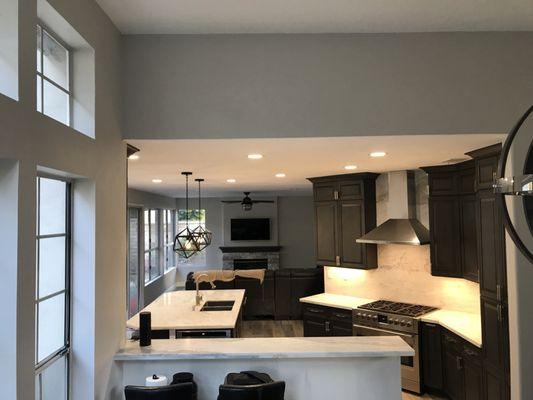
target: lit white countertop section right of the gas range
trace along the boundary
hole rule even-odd
[[[437,310],[420,317],[421,321],[439,324],[462,337],[474,346],[480,347],[481,340],[481,315],[461,311]]]

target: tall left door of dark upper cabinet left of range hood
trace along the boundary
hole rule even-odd
[[[337,256],[337,202],[315,203],[316,257],[319,265],[335,265]]]

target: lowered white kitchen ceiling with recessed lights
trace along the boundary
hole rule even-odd
[[[220,140],[131,140],[141,149],[138,160],[128,161],[129,187],[182,197],[185,180],[181,171],[206,181],[206,196],[240,196],[243,191],[259,194],[309,193],[308,177],[349,172],[385,172],[437,165],[464,153],[498,142],[505,135],[417,135],[298,139],[220,139]],[[374,159],[372,151],[387,156]],[[260,153],[261,160],[248,154]],[[356,171],[344,166],[356,164]],[[285,178],[274,175],[284,172]],[[234,184],[226,179],[234,178]],[[159,184],[152,179],[162,179]],[[252,193],[252,198],[253,198]]]

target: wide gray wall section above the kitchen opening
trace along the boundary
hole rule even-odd
[[[507,132],[533,33],[126,36],[126,138]]]

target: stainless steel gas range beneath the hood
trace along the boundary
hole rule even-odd
[[[402,357],[402,388],[420,393],[420,346],[418,317],[436,310],[418,304],[378,300],[354,310],[354,336],[400,336],[414,350]]]

